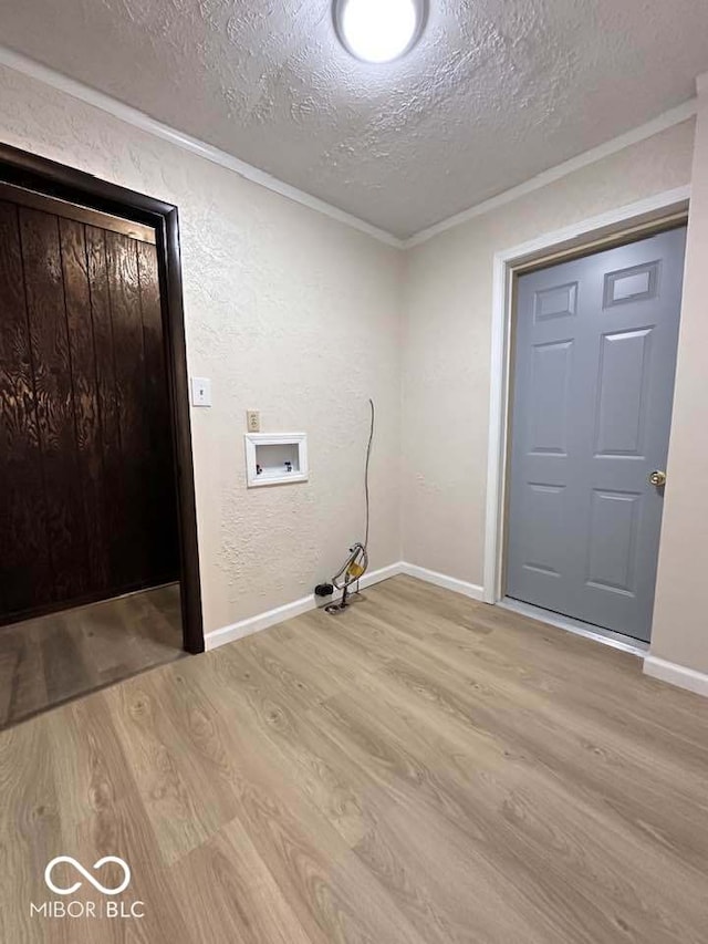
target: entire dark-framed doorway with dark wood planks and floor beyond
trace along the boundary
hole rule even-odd
[[[177,210],[0,147],[0,727],[204,651]]]

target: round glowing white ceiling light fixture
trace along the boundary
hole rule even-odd
[[[393,62],[416,44],[427,0],[334,0],[334,27],[342,45],[364,62]]]

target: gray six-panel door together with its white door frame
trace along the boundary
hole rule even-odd
[[[637,651],[650,637],[687,217],[683,194],[647,203],[496,260],[485,581],[487,602]]]

